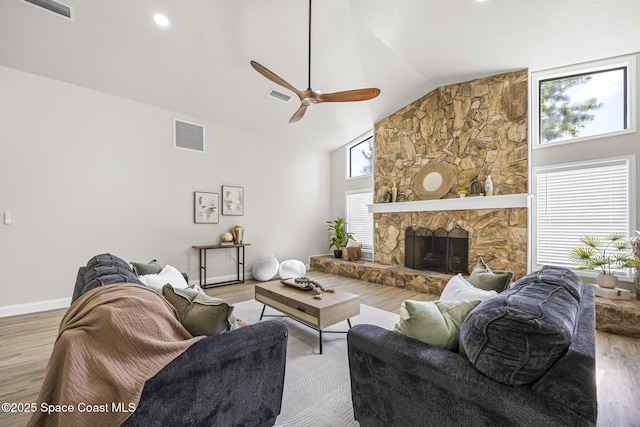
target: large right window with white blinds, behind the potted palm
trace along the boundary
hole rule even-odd
[[[635,229],[635,156],[534,168],[533,268],[576,268],[569,252],[584,234]],[[630,271],[619,275],[630,279]]]

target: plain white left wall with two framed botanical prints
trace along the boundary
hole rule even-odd
[[[327,252],[330,154],[0,67],[0,309],[69,298],[79,266],[110,252],[198,277],[195,244],[245,228],[245,270]],[[173,148],[173,118],[206,127],[206,153]],[[244,187],[244,216],[193,223],[193,192]],[[235,251],[209,252],[210,277]],[[1,311],[1,310],[0,310]]]

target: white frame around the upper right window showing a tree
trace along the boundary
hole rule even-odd
[[[540,141],[540,83],[546,80],[560,79],[564,77],[574,77],[584,74],[595,74],[598,72],[609,71],[619,68],[626,68],[626,97],[627,103],[625,108],[626,129],[600,133],[597,135],[582,136],[572,138],[565,141],[547,142]],[[557,147],[559,145],[574,144],[583,141],[589,141],[600,138],[608,138],[616,135],[625,135],[636,132],[636,56],[626,55],[616,58],[592,61],[584,64],[559,67],[544,71],[534,71],[530,73],[530,114],[529,123],[531,124],[531,147],[534,150]]]

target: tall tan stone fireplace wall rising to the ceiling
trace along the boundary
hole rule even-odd
[[[483,257],[491,268],[525,275],[526,203],[485,205],[500,196],[526,197],[527,156],[526,70],[440,87],[376,123],[374,262],[416,268],[405,230],[461,229],[468,234],[467,265],[432,261],[429,268],[464,273]],[[431,162],[449,167],[453,183],[442,199],[420,201],[416,178]],[[496,196],[467,197],[458,208],[458,191],[477,188],[487,175]],[[402,202],[383,203],[394,187]]]

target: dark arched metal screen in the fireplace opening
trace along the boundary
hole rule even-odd
[[[456,227],[405,230],[405,261],[407,268],[440,273],[468,274],[469,233]]]

